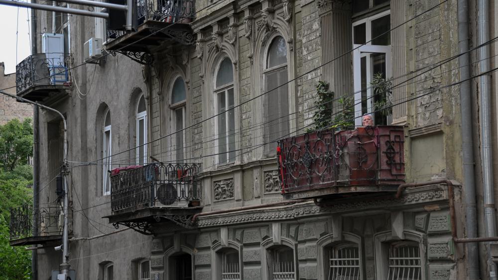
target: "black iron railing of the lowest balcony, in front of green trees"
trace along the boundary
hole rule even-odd
[[[61,210],[61,206],[57,203],[34,209],[31,204],[11,208],[9,224],[10,240],[61,235]],[[33,215],[38,221],[37,234],[33,234]]]

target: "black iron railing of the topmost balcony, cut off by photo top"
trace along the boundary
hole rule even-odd
[[[147,20],[186,24],[195,19],[195,0],[137,0],[135,5],[134,16],[138,25]],[[125,32],[116,30],[107,33],[110,39],[123,34]]]

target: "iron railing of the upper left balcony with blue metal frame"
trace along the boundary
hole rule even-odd
[[[17,94],[34,86],[68,85],[67,64],[71,56],[64,53],[40,53],[28,56],[15,67]]]

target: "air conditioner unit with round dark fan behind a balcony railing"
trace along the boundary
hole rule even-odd
[[[154,202],[157,207],[188,207],[188,201],[181,200],[182,184],[173,184],[171,182],[156,182]],[[180,200],[180,201],[179,201]]]

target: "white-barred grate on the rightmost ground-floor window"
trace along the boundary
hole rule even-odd
[[[422,280],[421,270],[417,246],[391,246],[388,280]]]

